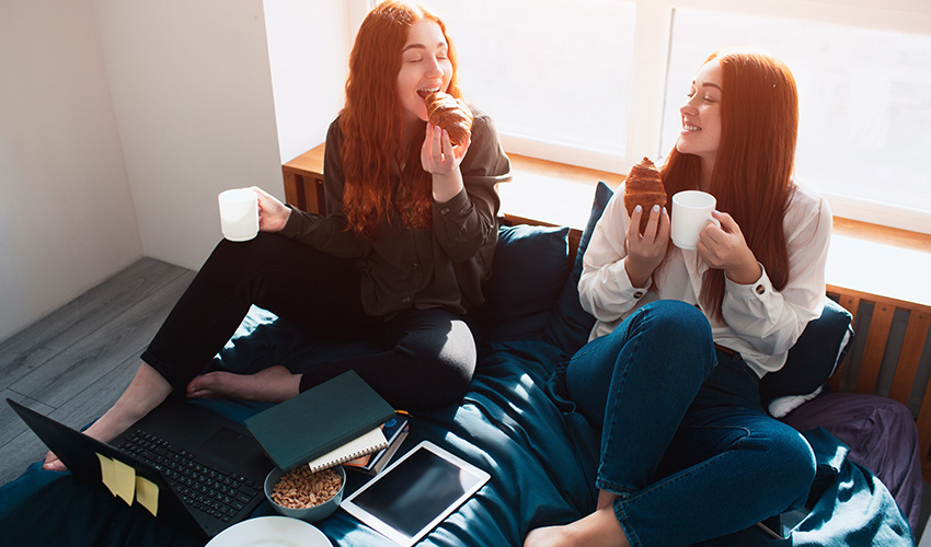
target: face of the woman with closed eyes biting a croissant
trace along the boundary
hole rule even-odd
[[[446,91],[452,79],[449,45],[442,30],[433,21],[415,21],[407,31],[398,72],[398,98],[404,120],[427,120],[424,97],[434,91]]]

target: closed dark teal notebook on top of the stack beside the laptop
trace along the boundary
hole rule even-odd
[[[347,371],[245,420],[281,470],[289,472],[371,431],[394,409]]]

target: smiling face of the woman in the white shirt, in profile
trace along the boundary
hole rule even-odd
[[[682,132],[676,149],[698,155],[706,167],[714,164],[721,144],[722,85],[721,63],[713,59],[698,71],[689,89],[689,100],[679,108]]]

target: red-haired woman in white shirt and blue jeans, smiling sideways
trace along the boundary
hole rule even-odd
[[[660,170],[667,202],[710,193],[720,225],[687,251],[670,245],[659,206],[629,218],[620,191],[607,205],[578,282],[595,327],[558,372],[601,430],[598,500],[532,531],[528,547],[690,545],[804,503],[815,476],[811,446],[758,391],[825,298],[831,213],[792,181],[794,79],[768,54],[720,51],[680,114]]]

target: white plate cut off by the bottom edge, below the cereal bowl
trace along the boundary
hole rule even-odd
[[[260,516],[234,524],[206,547],[332,547],[313,524],[288,516]]]

